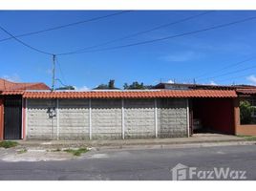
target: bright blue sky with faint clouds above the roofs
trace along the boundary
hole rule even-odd
[[[116,12],[119,11],[0,11],[0,26],[18,35]],[[133,81],[146,85],[160,82],[256,85],[256,19],[154,41],[243,20],[256,16],[256,11],[127,11],[17,39],[44,52],[68,53],[198,14],[202,15],[99,46],[91,53],[56,55],[56,78],[77,90],[95,88],[110,79],[115,79],[118,88]],[[1,41],[8,37],[8,33],[0,30],[0,77],[51,86],[53,56],[37,53],[13,38]],[[144,41],[153,42],[122,47]],[[108,50],[112,47],[122,48]],[[249,60],[242,62],[246,59]],[[56,81],[55,87],[59,86]]]

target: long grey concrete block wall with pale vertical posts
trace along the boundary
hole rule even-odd
[[[187,137],[186,104],[170,98],[27,99],[27,138]]]

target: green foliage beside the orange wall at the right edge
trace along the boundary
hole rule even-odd
[[[243,100],[240,102],[240,120],[242,124],[253,123],[253,118],[251,117],[254,107],[250,105],[249,101]]]

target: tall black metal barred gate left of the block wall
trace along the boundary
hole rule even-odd
[[[4,138],[20,139],[22,123],[22,101],[18,97],[5,98]]]

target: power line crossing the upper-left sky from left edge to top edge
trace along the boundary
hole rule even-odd
[[[83,20],[83,21],[78,21],[78,22],[75,22],[75,23],[60,25],[60,26],[45,29],[45,30],[40,30],[40,31],[36,31],[36,32],[22,33],[22,34],[15,35],[14,37],[23,37],[23,36],[33,35],[33,34],[37,34],[37,33],[42,33],[42,32],[50,32],[50,31],[54,31],[54,30],[60,30],[60,29],[63,29],[63,28],[72,27],[72,26],[75,26],[75,25],[88,23],[88,22],[100,20],[100,19],[103,19],[103,18],[111,17],[111,16],[116,16],[118,14],[122,14],[122,13],[126,13],[126,12],[129,12],[129,11],[118,11],[118,12],[107,14],[107,15],[104,15],[104,16],[98,16],[98,17],[95,17],[95,18],[90,18],[90,19]],[[8,37],[8,38],[0,39],[0,42],[6,41],[6,40],[11,40],[14,37],[11,36],[11,37]]]

